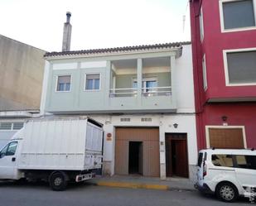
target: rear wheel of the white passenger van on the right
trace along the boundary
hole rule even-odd
[[[232,203],[238,199],[239,192],[234,184],[224,182],[217,185],[216,195],[222,201]]]

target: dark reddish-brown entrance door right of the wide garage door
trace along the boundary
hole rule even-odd
[[[167,177],[188,178],[186,134],[172,133],[166,135],[166,162]]]

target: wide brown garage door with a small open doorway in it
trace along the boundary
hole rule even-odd
[[[129,167],[134,165],[131,164],[133,163],[131,161],[133,161],[133,158],[138,158],[138,170],[141,172],[141,175],[159,177],[158,128],[118,127],[116,128],[115,137],[115,174],[128,175],[131,169]],[[138,145],[138,151],[136,151],[136,145]],[[131,152],[138,152],[138,157],[131,154]]]

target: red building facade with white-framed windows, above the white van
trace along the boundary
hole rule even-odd
[[[198,148],[256,147],[256,0],[191,0]]]

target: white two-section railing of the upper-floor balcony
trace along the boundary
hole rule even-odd
[[[152,96],[171,96],[171,87],[150,87],[142,88],[143,97],[152,97]],[[109,97],[137,97],[138,89],[137,88],[125,88],[125,89],[110,89]]]

